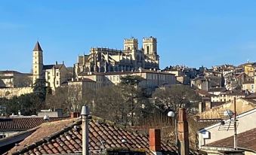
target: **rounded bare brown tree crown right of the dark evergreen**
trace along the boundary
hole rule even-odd
[[[178,108],[190,108],[191,102],[198,101],[199,96],[189,86],[180,84],[157,89],[153,93],[153,99],[162,111],[177,111]]]

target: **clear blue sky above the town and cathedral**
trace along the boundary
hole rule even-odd
[[[0,70],[29,72],[39,40],[44,63],[67,66],[90,47],[158,39],[161,68],[256,60],[254,0],[1,0]]]

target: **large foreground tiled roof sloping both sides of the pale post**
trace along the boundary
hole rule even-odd
[[[61,120],[51,123],[51,125],[42,124],[37,131],[20,142],[9,153],[44,154],[82,151],[82,121],[76,120],[74,123],[69,121]],[[177,147],[171,146],[171,144],[162,142],[161,147],[163,151],[177,154]],[[149,150],[147,135],[128,131],[123,126],[94,118],[89,123],[89,150],[100,153],[103,149],[140,150],[147,154],[153,154]],[[190,154],[199,153],[190,151]]]

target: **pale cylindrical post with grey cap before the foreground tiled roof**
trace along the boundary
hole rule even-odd
[[[89,155],[89,140],[88,140],[88,120],[89,120],[89,108],[88,105],[82,106],[82,155]]]

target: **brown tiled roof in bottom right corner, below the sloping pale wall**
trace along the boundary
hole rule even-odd
[[[237,146],[256,151],[256,128],[248,130],[246,132],[239,133],[237,135]],[[210,147],[234,147],[234,137],[221,139],[220,141],[214,141],[211,144],[207,144]]]

